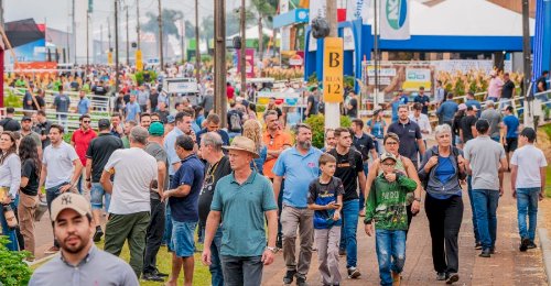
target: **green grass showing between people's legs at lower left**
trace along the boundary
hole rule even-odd
[[[104,249],[104,241],[96,243],[98,249],[102,250]],[[196,244],[197,248],[201,250],[203,249],[202,244]],[[122,252],[120,253],[120,257],[125,261],[130,260],[130,253],[128,251],[128,246],[125,244],[125,248],[122,248]],[[32,266],[32,270],[36,270],[40,267],[42,264],[36,264]],[[172,265],[172,254],[166,251],[166,248],[162,246],[161,250],[159,251],[159,254],[156,255],[156,266],[159,267],[159,271],[162,273],[171,273],[171,265]],[[183,284],[183,271],[180,273],[180,278],[177,282],[177,285]],[[144,286],[159,286],[161,283],[159,282],[145,282],[145,280],[140,280],[140,285]],[[195,272],[193,274],[193,285],[197,286],[208,286],[210,285],[210,272],[208,272],[208,266],[203,265],[201,262],[201,253],[195,253]]]

